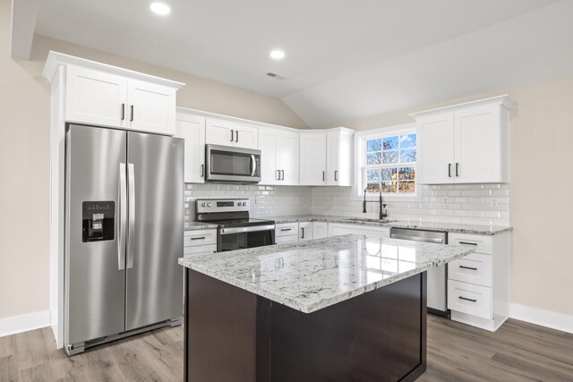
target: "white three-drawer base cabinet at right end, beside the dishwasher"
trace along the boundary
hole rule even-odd
[[[497,330],[509,316],[509,233],[449,233],[448,241],[475,246],[475,253],[448,265],[451,319]]]

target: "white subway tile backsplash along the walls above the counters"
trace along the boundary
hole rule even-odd
[[[389,219],[412,223],[509,225],[509,184],[420,185],[416,201],[387,202]],[[194,220],[195,199],[248,198],[251,216],[334,215],[378,218],[350,187],[185,184],[185,222]],[[446,199],[446,202],[444,202]],[[493,199],[493,202],[492,202]]]

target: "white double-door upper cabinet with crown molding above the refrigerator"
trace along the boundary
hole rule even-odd
[[[139,132],[175,134],[175,97],[181,82],[50,52],[44,75],[64,67],[65,120]]]

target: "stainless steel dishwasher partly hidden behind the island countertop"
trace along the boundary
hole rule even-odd
[[[390,228],[390,237],[415,242],[448,243],[446,231],[417,228]],[[449,318],[448,264],[428,270],[428,313]]]

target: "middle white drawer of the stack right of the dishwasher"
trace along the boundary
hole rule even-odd
[[[449,280],[492,286],[492,256],[472,253],[448,265]]]

